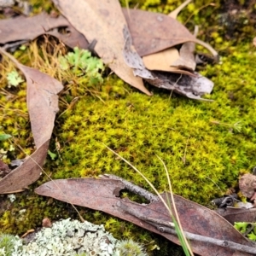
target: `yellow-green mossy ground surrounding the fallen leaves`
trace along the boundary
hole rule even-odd
[[[41,40],[15,52],[22,63],[50,72],[66,84],[50,146],[56,153],[55,142],[60,144],[61,158],[49,158],[45,172],[52,178],[113,173],[150,190],[143,178],[108,151],[104,143],[137,166],[160,191],[165,190],[167,184],[156,154],[166,163],[174,192],[189,200],[208,206],[212,198],[236,187],[240,173],[250,172],[256,166],[256,53],[252,44],[256,7],[241,3],[236,17],[230,18],[232,14],[222,3],[215,6],[209,3],[189,4],[179,19],[187,20],[191,29],[201,25],[199,38],[207,40],[221,55],[219,64],[201,68],[201,73],[215,83],[212,94],[207,96],[214,102],[195,102],[152,87],[148,89],[154,91],[154,96],[148,97],[114,75],[106,77],[103,84],[88,88],[88,84],[80,83],[72,73],[58,70],[56,55],[65,54],[66,49],[55,41],[50,43],[57,49],[54,54],[49,53],[53,47]],[[48,2],[44,4],[45,9],[51,9]],[[166,13],[178,4],[146,1],[141,7]],[[38,12],[39,2],[34,6]],[[202,6],[205,8],[201,9]],[[26,111],[26,84],[9,89],[5,77],[14,66],[6,59],[0,65],[0,122],[3,131],[14,137],[13,141],[0,143],[0,148],[8,151],[6,161],[9,161],[30,154],[33,143]],[[237,122],[241,129],[236,129]],[[14,151],[9,150],[11,145]],[[0,203],[4,206],[0,212],[1,230],[20,235],[40,225],[44,217],[78,218],[67,204],[33,193],[34,188],[47,180],[43,175],[25,192],[17,194],[14,203],[1,195]],[[22,209],[26,212],[20,212]],[[157,244],[160,251],[154,249],[154,255],[172,253],[173,245],[160,236],[102,212],[78,209],[85,219],[106,224],[106,230],[117,238],[133,237],[146,244],[148,250]]]

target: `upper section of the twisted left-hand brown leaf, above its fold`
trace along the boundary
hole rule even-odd
[[[32,67],[17,65],[26,77],[26,104],[37,148],[49,140],[59,111],[58,96],[63,85]]]

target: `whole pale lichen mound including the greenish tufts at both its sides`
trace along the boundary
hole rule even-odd
[[[5,244],[7,247],[4,246]],[[9,236],[9,242],[5,241],[2,247],[0,246],[0,256],[9,255],[146,256],[147,254],[135,241],[118,241],[105,231],[103,225],[91,224],[87,221],[81,223],[67,218],[55,222],[50,228],[43,228],[26,245],[22,245],[22,240],[18,237]]]

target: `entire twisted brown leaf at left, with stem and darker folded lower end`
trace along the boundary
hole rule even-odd
[[[35,182],[41,174],[41,166],[47,155],[49,139],[58,112],[58,96],[62,84],[40,71],[20,64],[12,55],[0,48],[3,55],[15,62],[26,77],[26,102],[32,125],[36,151],[24,163],[0,180],[0,194],[24,189]]]

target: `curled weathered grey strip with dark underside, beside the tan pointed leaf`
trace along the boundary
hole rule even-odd
[[[142,58],[132,49],[131,35],[127,27],[123,30],[125,38],[124,58],[127,65],[134,68],[134,75],[145,79],[156,87],[173,90],[178,94],[191,99],[205,100],[201,98],[206,93],[211,93],[213,83],[211,80],[194,73],[195,77],[175,73],[150,72],[143,65]],[[206,100],[207,101],[207,100]]]

